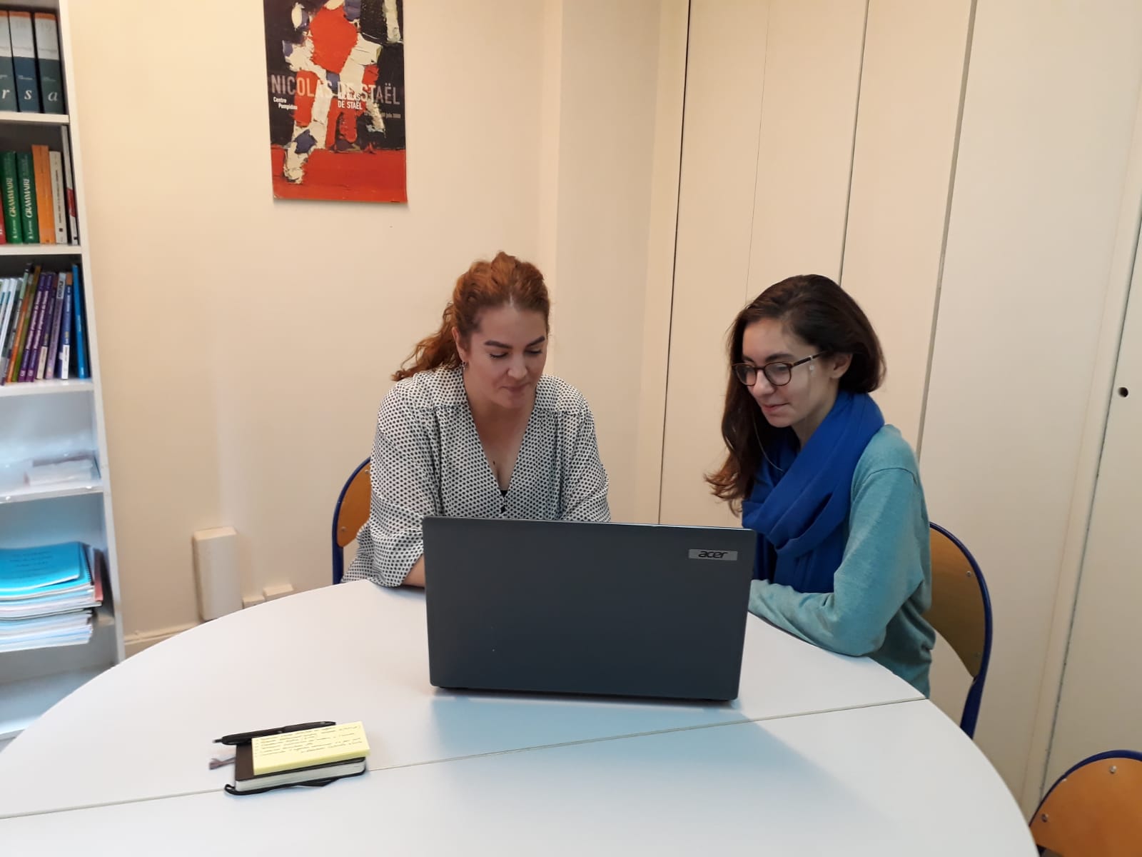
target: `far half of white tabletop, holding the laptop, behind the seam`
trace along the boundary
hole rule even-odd
[[[918,698],[754,617],[734,703],[453,695],[428,683],[423,593],[357,582],[216,619],[83,686],[0,753],[0,818],[215,792],[232,770],[208,769],[225,751],[210,742],[283,723],[361,720],[378,770]]]

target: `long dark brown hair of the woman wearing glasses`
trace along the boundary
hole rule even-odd
[[[871,393],[884,379],[884,354],[880,341],[868,317],[855,301],[828,277],[802,274],[770,286],[738,313],[730,328],[730,363],[742,362],[741,342],[746,328],[763,319],[774,319],[812,346],[814,352],[851,354],[852,362],[841,376],[841,389],[853,393]],[[734,512],[754,489],[754,475],[762,464],[763,444],[774,440],[775,430],[762,409],[729,373],[725,410],[722,414],[722,440],[725,463],[706,476],[714,495],[726,500]]]

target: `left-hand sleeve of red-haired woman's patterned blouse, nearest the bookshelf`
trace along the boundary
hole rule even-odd
[[[400,586],[424,553],[421,519],[443,508],[428,432],[400,389],[380,403],[370,460],[369,522],[346,578]]]

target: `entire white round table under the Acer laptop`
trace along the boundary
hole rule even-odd
[[[725,705],[465,696],[427,676],[423,594],[364,582],[179,634],[0,753],[0,851],[1036,854],[931,703],[753,617]],[[317,720],[364,722],[368,774],[222,792],[214,738]]]

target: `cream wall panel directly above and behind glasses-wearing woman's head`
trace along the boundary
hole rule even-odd
[[[914,446],[943,259],[972,0],[868,8],[842,285],[880,337],[885,418]]]

